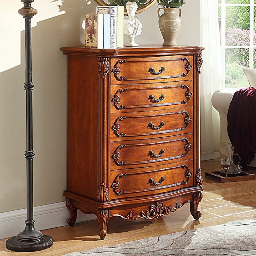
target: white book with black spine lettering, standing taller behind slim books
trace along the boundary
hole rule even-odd
[[[97,6],[96,13],[110,14],[110,44],[111,48],[116,48],[117,6]]]

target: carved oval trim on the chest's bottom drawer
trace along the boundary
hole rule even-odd
[[[120,183],[119,183],[118,179],[122,179],[125,176],[145,174],[145,173],[151,173],[151,172],[161,172],[161,171],[167,171],[167,170],[172,170],[172,169],[177,169],[177,168],[186,169],[185,173],[184,173],[186,180],[182,180],[180,182],[169,184],[169,185],[164,185],[164,186],[161,186],[161,187],[150,187],[150,188],[146,188],[146,189],[136,189],[136,190],[126,190],[126,191],[123,191],[121,189],[121,190],[118,191],[118,189],[120,189],[119,188]],[[190,179],[191,175],[192,175],[192,172],[190,172],[190,169],[189,169],[187,164],[182,164],[182,165],[178,165],[178,166],[174,166],[174,167],[170,167],[170,168],[152,170],[152,171],[148,171],[148,172],[119,173],[119,174],[116,175],[116,178],[113,181],[113,183],[111,185],[111,188],[113,188],[113,191],[115,192],[115,194],[117,196],[120,196],[120,195],[123,195],[123,194],[129,194],[129,193],[147,192],[147,191],[156,190],[156,189],[164,189],[164,188],[171,188],[171,187],[175,187],[175,186],[179,186],[179,185],[186,185],[188,183],[188,180]],[[146,180],[146,182],[148,182],[148,180]]]

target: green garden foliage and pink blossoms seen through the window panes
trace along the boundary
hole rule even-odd
[[[254,0],[255,1],[255,0]],[[255,1],[256,2],[256,1]],[[219,4],[221,0],[219,0]],[[226,4],[249,4],[250,0],[226,0]],[[218,8],[221,17],[221,6]],[[253,44],[256,44],[256,7],[253,10]],[[223,43],[223,42],[222,42]],[[226,42],[227,46],[250,45],[250,7],[226,6]],[[253,51],[253,66],[256,68],[256,50]],[[249,49],[226,49],[226,88],[247,87],[243,67],[249,68]]]

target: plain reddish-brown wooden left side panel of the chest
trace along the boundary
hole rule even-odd
[[[97,198],[98,58],[68,56],[68,191]]]

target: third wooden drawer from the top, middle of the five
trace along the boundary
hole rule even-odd
[[[193,107],[110,114],[110,141],[193,132]],[[136,138],[135,138],[136,139]]]

